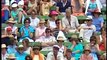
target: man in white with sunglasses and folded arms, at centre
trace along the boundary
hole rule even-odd
[[[52,46],[56,43],[55,37],[52,35],[52,31],[50,28],[46,28],[45,36],[41,36],[35,42],[42,43],[42,50],[41,51],[52,51]]]

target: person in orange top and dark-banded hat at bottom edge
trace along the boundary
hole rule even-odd
[[[32,52],[31,52],[31,57],[33,60],[45,60],[45,56],[40,53],[41,46],[40,45],[34,45]]]

